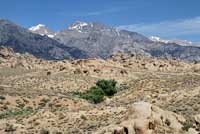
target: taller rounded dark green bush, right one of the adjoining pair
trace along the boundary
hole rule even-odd
[[[96,85],[103,90],[106,96],[113,96],[117,93],[117,82],[115,80],[98,80]]]

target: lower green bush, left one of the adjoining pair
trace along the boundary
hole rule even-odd
[[[94,86],[81,95],[81,98],[89,100],[93,103],[100,103],[103,101],[104,92],[101,88]]]

